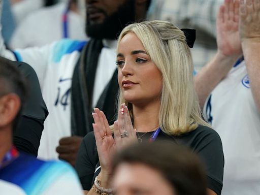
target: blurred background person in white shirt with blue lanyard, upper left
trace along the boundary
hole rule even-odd
[[[78,1],[68,0],[30,13],[15,29],[10,48],[39,47],[62,38],[86,40]]]

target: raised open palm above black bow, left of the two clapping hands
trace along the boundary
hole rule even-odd
[[[239,37],[239,0],[225,0],[217,15],[218,51],[225,56],[242,54]]]

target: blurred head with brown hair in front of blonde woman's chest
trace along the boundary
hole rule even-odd
[[[127,147],[113,158],[113,194],[206,195],[199,158],[170,142]]]

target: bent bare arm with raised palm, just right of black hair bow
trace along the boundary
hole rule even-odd
[[[225,0],[217,15],[217,54],[194,78],[201,108],[242,54],[238,25],[239,0]]]

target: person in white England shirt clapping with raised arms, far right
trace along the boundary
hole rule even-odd
[[[206,119],[225,156],[223,195],[260,194],[260,1],[225,0],[218,51],[196,76]],[[243,55],[243,57],[241,57]]]

